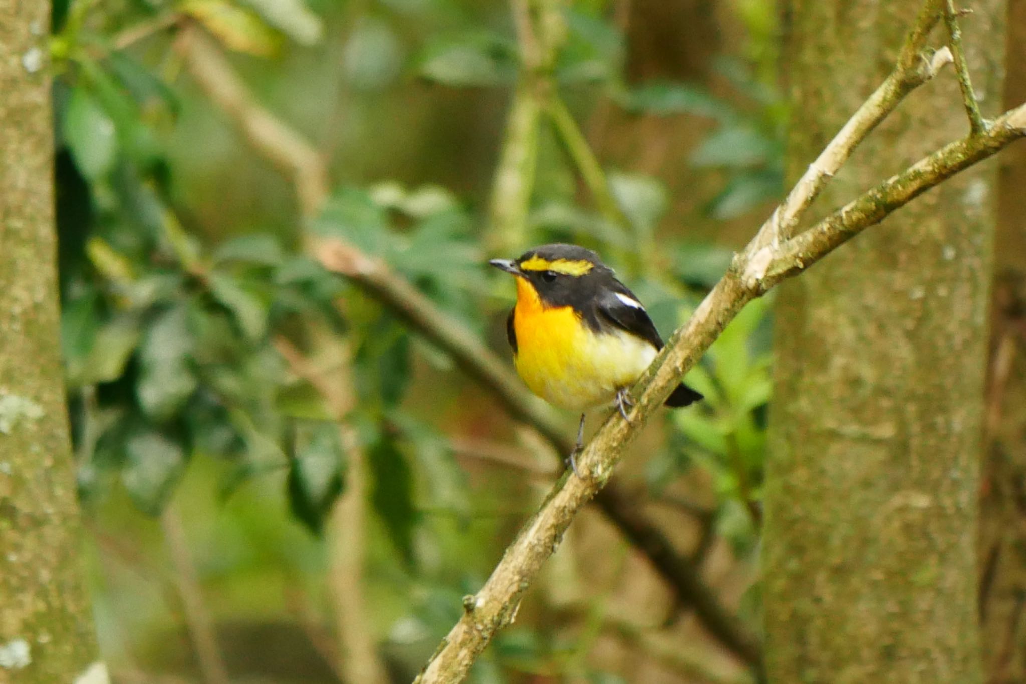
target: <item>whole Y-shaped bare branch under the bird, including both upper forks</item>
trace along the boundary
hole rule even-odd
[[[782,206],[735,257],[731,269],[690,320],[673,334],[635,389],[636,401],[630,421],[617,412],[609,415],[578,457],[582,477],[567,474],[556,483],[540,510],[506,550],[481,591],[467,597],[463,617],[428,661],[417,679],[418,684],[463,681],[495,634],[513,621],[521,595],[558,547],[577,512],[606,483],[624,447],[745,305],[786,278],[797,275],[868,227],[880,223],[923,192],[1026,136],[1024,104],[980,130],[971,131],[965,138],[924,157],[810,230],[789,237],[813,199],[859,142],[908,91],[953,59],[949,48],[933,54],[921,51],[941,11],[937,0],[928,0],[906,40],[895,72],[853,115]]]

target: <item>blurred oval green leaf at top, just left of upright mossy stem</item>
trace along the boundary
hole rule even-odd
[[[433,40],[421,55],[419,67],[424,78],[458,87],[510,83],[516,70],[516,45],[484,31]]]

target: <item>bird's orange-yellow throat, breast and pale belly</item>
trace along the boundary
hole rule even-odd
[[[546,308],[519,278],[513,330],[520,377],[535,394],[571,410],[611,402],[656,357],[656,348],[639,337],[595,333],[571,308]]]

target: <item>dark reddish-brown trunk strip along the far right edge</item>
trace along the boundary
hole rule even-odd
[[[1026,0],[1009,0],[1004,102],[1026,102]],[[1026,681],[1026,147],[1000,158],[987,443],[980,488],[980,620],[991,684]]]

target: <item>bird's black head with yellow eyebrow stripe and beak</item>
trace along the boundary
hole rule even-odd
[[[613,276],[598,254],[577,245],[542,245],[516,260],[497,258],[489,264],[530,284],[546,306],[578,311]]]

